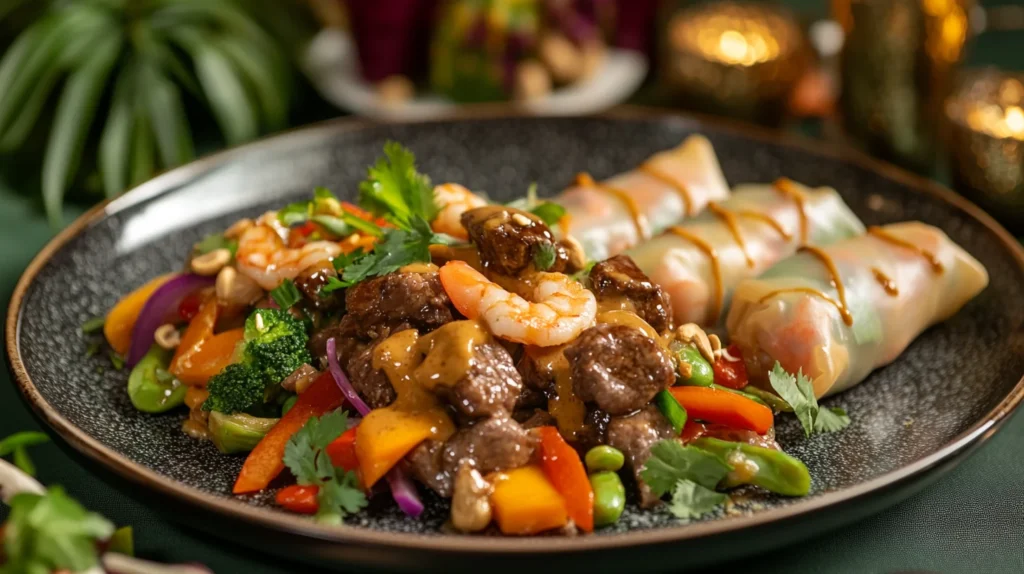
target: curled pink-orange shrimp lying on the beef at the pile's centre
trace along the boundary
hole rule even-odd
[[[594,324],[594,294],[562,273],[537,273],[531,301],[509,293],[464,261],[449,261],[440,270],[441,285],[456,309],[480,318],[496,337],[552,347],[577,338]]]

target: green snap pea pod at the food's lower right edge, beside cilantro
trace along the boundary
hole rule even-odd
[[[807,467],[779,450],[707,437],[691,444],[732,465],[733,471],[719,485],[723,488],[753,484],[784,496],[806,496],[811,490]]]

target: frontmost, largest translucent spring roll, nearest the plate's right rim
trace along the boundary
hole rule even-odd
[[[765,384],[777,360],[823,397],[892,362],[987,284],[985,268],[941,230],[895,223],[804,248],[742,281],[726,325],[752,381]]]

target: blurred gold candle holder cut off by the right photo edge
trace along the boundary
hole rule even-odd
[[[946,118],[954,186],[1024,232],[1024,74],[966,74]]]

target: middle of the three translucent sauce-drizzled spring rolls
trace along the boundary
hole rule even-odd
[[[828,245],[863,232],[835,189],[781,179],[738,185],[729,200],[627,255],[669,296],[676,324],[716,326],[742,279],[801,245]]]

